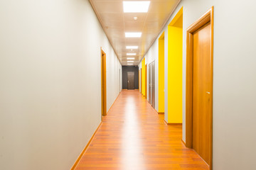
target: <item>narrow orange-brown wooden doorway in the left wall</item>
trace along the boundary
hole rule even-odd
[[[106,52],[100,47],[101,60],[101,104],[102,115],[107,115],[107,75],[106,75]]]

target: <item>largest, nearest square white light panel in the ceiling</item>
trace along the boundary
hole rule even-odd
[[[150,1],[123,1],[124,13],[147,13]]]

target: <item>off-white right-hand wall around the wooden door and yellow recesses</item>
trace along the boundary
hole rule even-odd
[[[168,37],[167,24],[183,6],[183,140],[185,140],[186,28],[214,6],[214,170],[255,169],[255,5],[256,1],[252,0],[182,0],[163,29],[165,37]],[[157,43],[154,43],[151,48],[155,48],[156,45]],[[166,45],[165,40],[165,49]],[[165,52],[165,72],[166,62]]]

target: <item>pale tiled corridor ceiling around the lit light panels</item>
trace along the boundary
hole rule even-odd
[[[135,57],[134,65],[137,65],[180,1],[151,0],[147,13],[124,13],[122,0],[90,0],[90,3],[121,64],[127,65],[127,57],[129,57],[127,52],[136,52],[136,56],[130,57]],[[137,21],[134,20],[134,16],[138,17]],[[142,37],[125,38],[125,32],[142,32]],[[139,48],[137,50],[127,50],[126,46],[129,45],[139,46]]]

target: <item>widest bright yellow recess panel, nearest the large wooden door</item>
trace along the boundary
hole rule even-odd
[[[182,123],[183,9],[168,26],[168,123]]]

